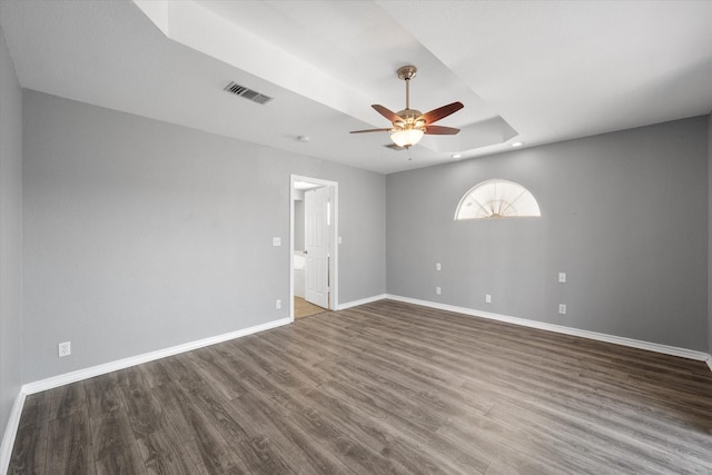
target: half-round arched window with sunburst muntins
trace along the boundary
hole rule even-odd
[[[455,220],[542,216],[534,195],[522,185],[495,178],[471,188],[459,200]]]

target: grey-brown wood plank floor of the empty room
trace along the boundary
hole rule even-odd
[[[29,396],[11,474],[712,474],[700,362],[383,300]]]

